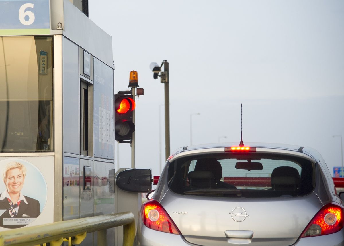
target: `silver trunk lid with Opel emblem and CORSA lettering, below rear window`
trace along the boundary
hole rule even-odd
[[[313,192],[302,198],[210,198],[168,193],[161,205],[186,241],[204,246],[291,245],[323,206]]]

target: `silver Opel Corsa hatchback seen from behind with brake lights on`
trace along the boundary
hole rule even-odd
[[[344,245],[343,208],[312,148],[189,146],[169,157],[142,205],[137,244]]]

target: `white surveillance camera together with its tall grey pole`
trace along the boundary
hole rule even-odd
[[[164,65],[164,71],[161,71],[162,65]],[[153,72],[153,78],[157,79],[160,77],[160,83],[165,84],[165,160],[167,160],[167,158],[170,156],[169,63],[167,60],[163,60],[161,66],[159,66],[158,63],[152,62],[149,65],[149,68]]]

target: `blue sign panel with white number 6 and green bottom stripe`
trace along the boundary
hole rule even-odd
[[[49,34],[49,9],[49,0],[0,0],[0,34]]]

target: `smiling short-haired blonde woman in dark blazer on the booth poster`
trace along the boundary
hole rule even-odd
[[[18,228],[31,223],[32,218],[40,215],[39,201],[22,194],[26,168],[23,164],[12,161],[3,171],[2,179],[6,190],[0,194],[0,226]],[[18,220],[19,219],[19,220]]]

